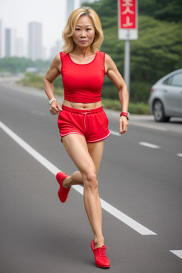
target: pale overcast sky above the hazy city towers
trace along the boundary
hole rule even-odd
[[[48,50],[62,35],[66,21],[66,0],[0,0],[4,28],[16,29],[16,37],[28,41],[28,23],[43,23],[43,46]],[[47,50],[47,51],[48,51]]]

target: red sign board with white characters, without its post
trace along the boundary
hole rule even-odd
[[[119,40],[138,38],[138,0],[117,0]]]

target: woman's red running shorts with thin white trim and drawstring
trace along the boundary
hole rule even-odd
[[[97,142],[111,134],[103,107],[80,110],[63,105],[62,109],[58,115],[61,141],[68,134],[81,134],[87,142]]]

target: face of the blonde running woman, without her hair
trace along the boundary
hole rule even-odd
[[[81,16],[75,26],[73,41],[79,48],[89,47],[95,38],[95,26],[88,16]]]

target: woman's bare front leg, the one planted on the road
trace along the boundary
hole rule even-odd
[[[89,154],[89,149],[84,137],[77,134],[70,134],[63,137],[63,144],[70,158],[73,159],[81,173],[84,184],[85,210],[94,232],[95,243],[97,247],[102,247],[102,245],[104,245],[104,237],[102,235],[102,209],[98,194],[97,171],[94,161]],[[98,156],[100,154],[100,158],[102,158],[103,146],[104,141],[97,144],[97,154]],[[80,174],[75,173],[75,178],[80,179]]]

